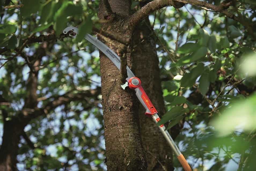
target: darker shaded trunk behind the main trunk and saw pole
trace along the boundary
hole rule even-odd
[[[150,37],[151,29],[146,19],[134,34],[134,63],[136,76],[158,111],[159,116],[165,113],[161,89],[159,60],[156,54],[155,42]],[[142,42],[143,41],[143,42]],[[164,136],[155,125],[152,118],[145,115],[144,107],[140,107],[140,125],[142,141],[147,150],[148,170],[173,170],[172,151]]]

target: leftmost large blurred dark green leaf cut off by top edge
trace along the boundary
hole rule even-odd
[[[41,7],[40,1],[23,0],[23,7],[20,9],[20,14],[23,17],[27,17],[30,14],[36,13]]]

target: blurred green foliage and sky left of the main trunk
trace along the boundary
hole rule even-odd
[[[4,9],[0,25],[0,95],[10,104],[1,104],[1,111],[8,113],[9,120],[18,115],[26,103],[29,71],[33,67],[38,67],[36,107],[45,110],[39,117],[31,116],[24,128],[26,136],[20,140],[17,168],[104,170],[97,51],[91,44],[82,42],[77,45],[71,38],[56,41],[68,22],[74,25],[92,23],[98,3],[30,0],[12,3],[17,9]],[[88,32],[91,28],[88,27]],[[47,37],[51,33],[52,38]],[[37,42],[34,39],[40,37],[45,37],[42,44],[26,42]],[[18,48],[22,46],[24,50],[19,52]],[[35,60],[40,61],[36,66],[33,65]],[[81,96],[86,96],[88,91],[97,93],[86,100]],[[68,103],[50,108],[48,104],[57,102],[62,96]],[[3,119],[1,117],[1,124]]]

